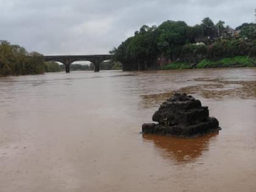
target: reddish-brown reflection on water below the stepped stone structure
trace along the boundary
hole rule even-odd
[[[213,142],[218,133],[211,133],[198,138],[175,138],[160,135],[143,134],[143,140],[154,143],[157,151],[164,158],[171,158],[178,163],[191,162],[201,157],[208,150],[210,142]]]

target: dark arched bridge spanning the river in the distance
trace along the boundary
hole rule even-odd
[[[93,63],[94,72],[99,72],[99,63],[112,59],[112,55],[51,55],[43,56],[46,62],[54,61],[65,65],[66,73],[70,72],[70,65],[73,62],[88,61]]]

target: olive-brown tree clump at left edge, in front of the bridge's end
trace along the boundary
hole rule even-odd
[[[27,52],[19,45],[0,41],[0,76],[44,73],[41,56],[38,52]]]

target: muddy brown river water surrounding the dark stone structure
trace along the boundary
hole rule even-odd
[[[185,91],[219,133],[141,135]],[[255,191],[256,68],[0,78],[0,191]]]

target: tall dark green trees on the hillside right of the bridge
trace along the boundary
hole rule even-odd
[[[244,23],[236,30],[224,24],[224,21],[214,24],[207,17],[195,26],[188,26],[184,21],[165,21],[158,27],[144,25],[110,52],[123,64],[124,70],[256,55],[256,24]]]

